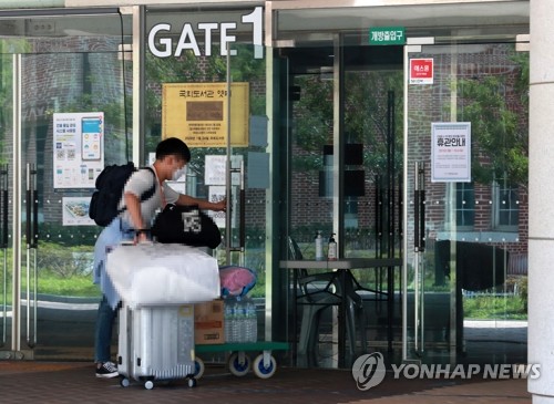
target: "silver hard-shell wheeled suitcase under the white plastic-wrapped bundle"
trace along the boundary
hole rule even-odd
[[[119,314],[117,370],[121,385],[131,380],[154,387],[156,381],[187,379],[196,385],[194,358],[194,305],[152,305]]]

